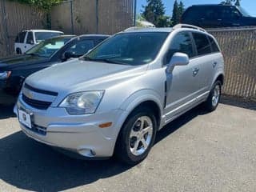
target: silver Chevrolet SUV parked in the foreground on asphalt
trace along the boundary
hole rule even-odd
[[[14,111],[38,142],[135,164],[174,118],[202,102],[215,110],[223,79],[222,54],[205,30],[133,28],[26,78]]]

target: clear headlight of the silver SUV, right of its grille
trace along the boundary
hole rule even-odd
[[[104,90],[86,91],[67,96],[59,107],[69,114],[94,114],[102,101]]]

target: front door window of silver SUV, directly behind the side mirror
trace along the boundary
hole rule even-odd
[[[189,33],[182,32],[174,36],[170,42],[166,62],[169,62],[170,58],[177,52],[187,54],[190,58],[194,57],[193,45]]]

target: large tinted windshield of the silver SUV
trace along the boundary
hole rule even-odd
[[[132,66],[143,65],[156,58],[168,34],[166,32],[116,34],[81,59]]]

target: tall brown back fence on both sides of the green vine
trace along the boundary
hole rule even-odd
[[[51,29],[65,34],[114,34],[133,24],[134,0],[64,1],[51,10]],[[18,32],[46,29],[46,13],[0,0],[0,57],[14,54]]]

